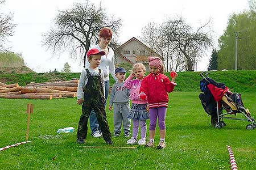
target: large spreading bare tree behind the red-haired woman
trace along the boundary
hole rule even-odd
[[[102,27],[112,28],[117,36],[122,20],[109,18],[101,5],[96,7],[87,0],[86,3],[74,3],[72,8],[59,11],[54,22],[55,27],[43,35],[43,45],[53,53],[67,49],[71,57],[76,57],[79,51],[82,59],[90,44],[98,40]]]

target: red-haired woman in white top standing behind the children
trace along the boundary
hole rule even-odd
[[[100,51],[104,51],[106,54],[104,56],[101,56],[101,63],[99,68],[104,72],[105,77],[105,99],[107,101],[108,95],[109,95],[109,73],[112,74],[115,81],[117,81],[117,78],[115,78],[115,56],[114,56],[114,50],[109,47],[110,41],[112,40],[112,29],[109,27],[104,27],[100,31],[100,40],[99,44],[93,45],[90,47],[97,48]],[[85,61],[85,69],[88,68],[90,63],[88,62],[88,59],[86,57]],[[105,101],[105,105],[106,105]],[[90,113],[90,129],[92,130],[92,136],[95,138],[101,137],[100,128],[98,125],[98,121],[96,118],[96,114],[94,111]]]

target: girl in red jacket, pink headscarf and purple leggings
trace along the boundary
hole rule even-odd
[[[145,147],[154,147],[156,120],[158,118],[158,126],[160,129],[160,142],[158,149],[166,147],[166,112],[168,107],[168,93],[174,90],[177,85],[175,76],[170,79],[164,75],[163,61],[159,57],[148,57],[150,74],[147,75],[142,83],[139,91],[141,100],[147,97],[150,112],[150,141]]]

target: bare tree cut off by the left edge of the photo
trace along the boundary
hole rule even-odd
[[[1,5],[5,3],[4,0],[0,1],[0,8]],[[3,14],[0,13],[0,50],[4,49],[4,43],[7,40],[7,37],[13,36],[15,25],[12,23],[13,14]]]

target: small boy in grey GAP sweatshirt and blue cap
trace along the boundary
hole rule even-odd
[[[118,82],[113,85],[109,100],[109,110],[112,111],[114,107],[114,137],[120,136],[122,124],[125,137],[130,137],[131,120],[127,118],[130,112],[130,90],[123,86],[125,74],[126,70],[122,67],[115,69]]]

